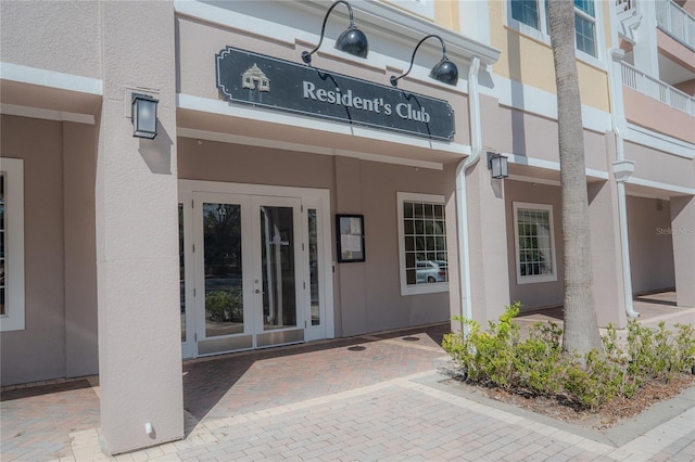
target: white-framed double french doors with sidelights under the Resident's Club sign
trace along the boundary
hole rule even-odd
[[[327,337],[330,268],[314,200],[192,192],[191,208],[185,356]]]

